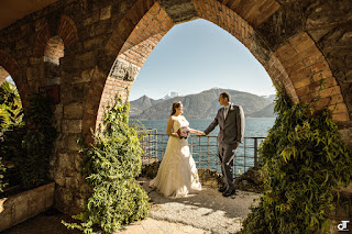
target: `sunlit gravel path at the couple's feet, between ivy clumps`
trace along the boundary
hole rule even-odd
[[[237,233],[241,222],[250,213],[254,199],[260,193],[238,191],[237,196],[224,198],[217,188],[204,187],[198,194],[187,198],[165,198],[148,188],[148,179],[141,178],[140,182],[148,192],[153,205],[150,218],[154,220],[183,223],[211,233]]]

